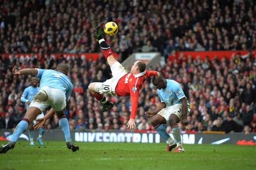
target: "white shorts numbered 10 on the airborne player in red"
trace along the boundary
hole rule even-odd
[[[119,79],[122,78],[127,72],[125,71],[124,67],[119,63],[115,62],[111,67],[111,72],[112,72],[112,78],[104,81],[103,83],[97,83],[95,85],[95,91],[97,93],[103,94],[103,93],[108,93],[111,95],[116,95],[115,94],[115,89],[117,86],[117,82]]]

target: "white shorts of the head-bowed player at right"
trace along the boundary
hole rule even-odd
[[[171,114],[175,114],[178,118],[179,121],[182,120],[183,113],[182,113],[182,104],[174,104],[172,106],[167,106],[163,108],[161,111],[159,111],[157,114],[163,116],[166,120],[166,124],[169,124],[169,117]],[[190,106],[188,106],[188,115],[190,113]]]

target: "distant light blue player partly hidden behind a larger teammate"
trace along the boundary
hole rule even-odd
[[[31,86],[27,87],[21,98],[20,98],[20,101],[24,102],[24,103],[27,103],[27,110],[28,110],[28,107],[30,105],[30,102],[34,99],[35,95],[37,94],[38,92],[38,87],[37,87],[37,83],[38,83],[38,79],[36,77],[33,77],[31,79]],[[44,113],[40,113],[39,115],[37,115],[36,119],[39,119],[39,118],[43,118],[44,117]],[[33,123],[36,123],[35,121],[33,121]],[[30,145],[35,145],[34,143],[34,133],[33,133],[33,123],[30,123],[29,125],[29,128],[28,128],[28,134],[29,134],[29,139],[30,139]],[[37,142],[40,144],[40,145],[44,145],[44,143],[42,142],[41,138],[42,138],[42,135],[44,134],[45,132],[45,128],[44,126],[42,126],[40,129],[39,129],[39,136],[37,138]]]

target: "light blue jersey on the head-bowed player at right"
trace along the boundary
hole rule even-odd
[[[167,87],[165,89],[157,89],[158,96],[161,102],[166,106],[172,106],[177,103],[181,103],[180,99],[186,97],[184,91],[178,82],[167,79]]]

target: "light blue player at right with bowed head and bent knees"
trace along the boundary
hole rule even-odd
[[[186,100],[183,90],[178,82],[164,79],[163,76],[153,77],[153,84],[158,89],[157,93],[161,100],[161,105],[154,111],[147,111],[147,117],[154,116],[152,125],[165,140],[167,140],[167,151],[176,147],[174,152],[184,152],[181,145],[180,128],[177,123],[181,122],[187,126],[187,114],[190,106]],[[167,133],[164,124],[170,125],[174,139]]]

